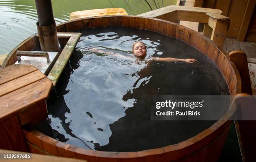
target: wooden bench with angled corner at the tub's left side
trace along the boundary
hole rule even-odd
[[[21,126],[48,117],[51,88],[51,80],[31,65],[0,69],[0,149],[28,152]]]

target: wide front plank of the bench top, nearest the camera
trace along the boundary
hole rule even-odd
[[[12,114],[18,113],[38,101],[46,100],[51,87],[51,81],[44,78],[0,97],[0,119],[5,119]]]

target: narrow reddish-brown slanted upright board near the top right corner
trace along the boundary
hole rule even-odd
[[[246,5],[246,10],[243,15],[243,20],[240,26],[240,30],[238,32],[237,40],[244,41],[246,37],[246,32],[251,20],[251,16],[253,14],[253,10],[256,4],[256,0],[248,0]]]

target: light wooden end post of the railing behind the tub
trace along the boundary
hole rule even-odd
[[[228,29],[229,18],[214,13],[207,13],[207,15],[209,15],[208,25],[212,27],[211,40],[222,48]]]

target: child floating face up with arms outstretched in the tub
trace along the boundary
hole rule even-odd
[[[118,55],[118,54],[113,53],[113,52],[105,52],[105,51],[102,51],[102,50],[99,50],[99,49],[95,49],[95,48],[90,48],[89,50],[94,51],[94,52]],[[138,60],[143,60],[146,57],[146,55],[147,55],[146,45],[143,42],[141,42],[141,41],[133,42],[132,53],[133,53],[133,55]],[[154,60],[154,61],[166,61],[166,62],[181,61],[181,62],[188,62],[188,63],[195,63],[195,62],[197,62],[197,60],[192,59],[192,58],[189,58],[189,59],[178,59],[178,58],[172,58],[172,57],[166,57],[166,58],[153,57],[151,60]]]

